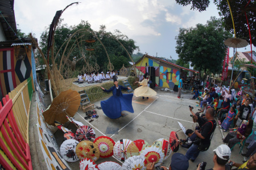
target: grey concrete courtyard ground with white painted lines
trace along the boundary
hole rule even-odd
[[[150,97],[150,99],[142,100],[142,97],[133,97],[133,108],[134,113],[123,112],[125,113],[124,117],[118,119],[110,119],[105,116],[101,109],[96,109],[98,112],[99,118],[93,118],[93,122],[85,120],[85,113],[80,109],[75,115],[75,120],[81,121],[84,125],[91,126],[95,133],[96,137],[101,135],[106,135],[111,137],[115,142],[119,139],[130,139],[135,141],[137,139],[144,139],[152,145],[156,139],[166,138],[169,140],[171,131],[180,130],[180,126],[177,123],[178,121],[185,126],[186,129],[195,130],[196,124],[193,123],[192,118],[189,116],[188,105],[194,107],[196,112],[199,107],[196,107],[194,100],[189,100],[192,97],[191,94],[184,94],[182,99],[178,99],[175,92],[164,92],[156,90],[158,92],[157,96]],[[106,98],[108,99],[108,98]],[[105,99],[105,100],[106,100]],[[96,106],[100,107],[100,101],[94,103]],[[74,125],[67,123],[68,129],[72,129],[73,132],[76,131]],[[67,127],[66,126],[66,127]],[[178,131],[177,134],[179,138],[185,139],[185,135],[182,130]],[[195,162],[189,161],[189,169],[196,169],[196,165],[200,162],[207,162],[206,169],[213,167],[213,150],[218,145],[223,144],[222,138],[227,134],[223,133],[218,127],[214,131],[212,138],[211,146],[208,151],[200,152],[200,155],[197,157]],[[61,145],[63,142],[63,132],[57,130],[55,133],[56,141],[58,145]],[[244,150],[246,150],[244,148]],[[186,148],[179,148],[180,153],[185,154],[187,151]],[[244,158],[238,154],[240,149],[238,146],[232,151],[231,160],[235,162],[242,163]],[[171,153],[171,155],[173,152]],[[100,164],[105,161],[113,161],[119,164],[122,164],[121,161],[111,158],[100,158],[97,160],[97,164]],[[171,156],[163,162],[163,165],[167,167],[171,163]],[[79,162],[69,164],[72,169],[77,169],[79,167]]]

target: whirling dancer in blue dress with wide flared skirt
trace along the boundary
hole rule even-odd
[[[133,99],[133,94],[122,94],[121,90],[131,90],[130,87],[123,87],[118,85],[117,77],[113,76],[114,85],[109,90],[101,87],[105,92],[113,91],[113,96],[108,100],[101,101],[102,111],[109,118],[119,118],[122,116],[122,111],[128,111],[133,113],[133,105],[131,105],[131,99]]]

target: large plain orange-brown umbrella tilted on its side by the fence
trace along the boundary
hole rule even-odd
[[[80,107],[81,97],[77,91],[66,90],[60,92],[52,101],[51,107],[43,112],[44,120],[49,124],[55,126],[55,121],[60,124],[68,122],[68,117],[75,116]],[[78,127],[77,127],[78,128]]]

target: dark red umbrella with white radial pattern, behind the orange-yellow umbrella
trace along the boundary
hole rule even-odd
[[[95,139],[95,132],[90,126],[81,126],[76,130],[76,139],[77,141],[91,141]]]

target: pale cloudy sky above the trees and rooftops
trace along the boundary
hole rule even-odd
[[[26,2],[26,3],[25,3]],[[14,1],[16,24],[24,33],[34,33],[39,40],[44,28],[51,24],[57,10],[63,10],[72,2],[68,0],[26,0]],[[210,16],[219,18],[216,6],[211,3],[207,11],[190,10],[177,5],[174,0],[81,0],[64,11],[63,23],[77,25],[88,20],[94,31],[106,25],[107,31],[118,29],[129,36],[150,56],[177,59],[175,36],[179,28],[195,27],[197,23],[206,24]],[[249,51],[250,46],[238,51]],[[253,47],[253,50],[255,48]],[[230,49],[230,57],[233,49]]]

